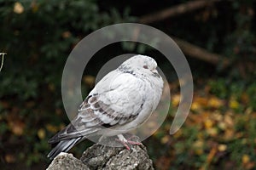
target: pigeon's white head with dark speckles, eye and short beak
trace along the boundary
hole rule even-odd
[[[119,66],[119,70],[131,73],[140,72],[142,74],[151,74],[160,77],[156,67],[157,63],[151,57],[146,55],[135,55],[130,59],[125,60],[125,62]]]

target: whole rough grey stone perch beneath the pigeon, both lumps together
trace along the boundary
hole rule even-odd
[[[72,154],[61,153],[61,155],[56,156],[49,165],[48,170],[56,169],[151,170],[154,167],[148,157],[146,147],[143,145],[132,145],[131,150],[127,150],[125,147],[93,144],[84,151],[80,160],[73,157]]]

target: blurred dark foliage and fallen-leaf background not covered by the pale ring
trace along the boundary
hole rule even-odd
[[[143,141],[156,169],[255,169],[256,3],[247,1],[0,0],[1,169],[45,169],[47,140],[69,120],[61,101],[61,74],[74,46],[103,26],[136,22],[164,31],[183,50],[194,77],[191,111],[169,134],[180,99],[175,72],[170,114]],[[119,54],[154,56],[153,48],[119,42],[90,60],[81,81],[84,97],[97,71]],[[0,57],[2,61],[2,57]],[[1,63],[1,62],[0,62]],[[90,141],[70,152],[81,156]]]

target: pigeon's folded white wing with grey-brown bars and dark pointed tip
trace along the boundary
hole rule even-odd
[[[129,73],[110,72],[84,99],[79,114],[49,143],[96,133],[134,120],[143,108],[143,81]]]

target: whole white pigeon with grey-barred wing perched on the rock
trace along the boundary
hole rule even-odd
[[[84,99],[73,121],[49,139],[56,145],[48,157],[67,152],[90,135],[118,135],[127,149],[127,144],[139,144],[122,133],[143,124],[159,104],[164,82],[156,68],[151,57],[135,55],[109,72]]]

